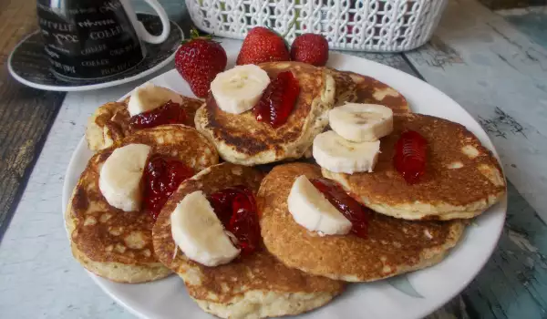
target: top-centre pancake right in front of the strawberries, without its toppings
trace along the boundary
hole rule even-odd
[[[222,159],[232,163],[253,166],[301,158],[328,124],[335,82],[322,68],[298,62],[269,62],[260,67],[270,77],[291,70],[298,78],[300,95],[283,126],[273,129],[257,121],[251,110],[226,113],[217,107],[212,93],[196,113],[196,129],[214,142]]]

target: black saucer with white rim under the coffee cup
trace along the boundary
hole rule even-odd
[[[137,18],[152,34],[161,32],[161,22],[157,15],[138,13]],[[161,67],[167,66],[175,58],[175,53],[183,39],[181,27],[170,21],[170,34],[165,41],[157,45],[143,43],[147,54],[137,66],[111,77],[62,80],[55,77],[49,70],[42,36],[39,31],[36,31],[15,46],[7,59],[7,68],[12,77],[24,85],[48,91],[88,91],[114,87],[146,77],[160,70]]]

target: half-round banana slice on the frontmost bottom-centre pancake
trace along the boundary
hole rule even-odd
[[[173,241],[194,262],[212,267],[231,262],[240,253],[201,190],[186,195],[170,221]]]

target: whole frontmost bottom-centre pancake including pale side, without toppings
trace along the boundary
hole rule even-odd
[[[207,267],[189,260],[176,247],[170,214],[186,195],[236,185],[256,191],[262,178],[262,172],[249,167],[227,162],[212,166],[181,184],[154,226],[154,248],[160,262],[181,276],[191,298],[207,313],[222,318],[301,314],[328,303],[343,290],[343,283],[285,267],[263,248],[230,263]]]

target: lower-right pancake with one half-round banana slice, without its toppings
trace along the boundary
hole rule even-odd
[[[263,242],[288,267],[348,282],[371,282],[440,262],[461,237],[462,221],[404,221],[371,212],[367,238],[319,236],[294,221],[287,197],[294,180],[320,178],[318,166],[274,168],[258,191]]]

